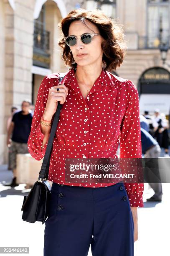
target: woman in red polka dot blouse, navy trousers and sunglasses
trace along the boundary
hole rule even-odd
[[[123,31],[100,10],[71,11],[61,21],[59,41],[69,72],[46,76],[39,88],[28,140],[43,158],[58,101],[61,108],[48,180],[50,214],[44,256],[132,256],[143,183],[86,182],[65,172],[71,158],[141,158],[139,99],[134,84],[106,71],[124,59]],[[80,55],[83,54],[83,55]]]

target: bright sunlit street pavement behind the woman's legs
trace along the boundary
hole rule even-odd
[[[23,196],[28,195],[30,189],[24,189],[25,184],[14,188],[1,184],[3,180],[10,182],[11,179],[12,172],[7,170],[7,165],[1,165],[0,247],[29,247],[30,256],[43,256],[45,224],[22,220]],[[146,202],[154,192],[145,184],[144,207],[138,208],[138,240],[134,243],[134,256],[170,255],[170,184],[162,184],[162,190],[162,202]],[[88,256],[92,256],[91,248]]]

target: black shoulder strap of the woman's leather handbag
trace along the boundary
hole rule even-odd
[[[66,73],[60,73],[60,80],[59,82],[61,82],[61,80],[65,77]],[[44,159],[43,159],[43,163],[41,166],[41,170],[39,172],[39,179],[48,179],[48,172],[49,172],[49,166],[50,166],[50,159],[51,159],[51,152],[52,152],[52,148],[53,148],[53,140],[54,140],[54,136],[56,133],[56,128],[57,128],[57,124],[58,124],[58,120],[59,120],[59,115],[60,115],[60,111],[61,111],[61,107],[62,104],[60,104],[60,102],[58,101],[58,105],[57,105],[57,110],[53,119],[53,124],[51,127],[51,132],[50,132],[50,136],[48,138],[48,144],[46,147],[46,153],[44,155]]]

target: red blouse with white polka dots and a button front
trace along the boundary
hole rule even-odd
[[[36,160],[45,154],[44,134],[40,119],[46,107],[49,88],[65,84],[69,94],[62,105],[49,167],[48,180],[58,184],[83,187],[107,187],[114,183],[71,183],[65,180],[66,158],[142,158],[139,98],[136,87],[128,79],[102,69],[87,97],[81,94],[70,68],[59,83],[59,74],[44,77],[38,90],[28,151]],[[143,183],[124,183],[131,206],[143,207]]]

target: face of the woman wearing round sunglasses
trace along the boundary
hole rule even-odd
[[[90,21],[85,22],[89,28],[87,28],[84,23],[81,22],[81,20],[73,21],[69,27],[69,36],[81,36],[84,33],[99,33],[98,28],[93,23]],[[77,65],[90,65],[96,61],[102,63],[103,51],[101,49],[101,42],[103,40],[104,39],[101,37],[101,35],[97,35],[92,38],[92,42],[90,44],[84,44],[81,42],[81,38],[77,38],[76,45],[69,46],[72,51],[74,61],[77,63]],[[86,55],[79,57],[77,54]]]

